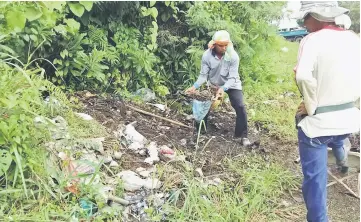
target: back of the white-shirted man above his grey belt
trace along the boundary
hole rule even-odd
[[[356,101],[360,90],[360,39],[351,31],[323,29],[311,38],[317,43],[319,106]]]

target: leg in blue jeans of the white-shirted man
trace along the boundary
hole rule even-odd
[[[327,145],[328,138],[310,139],[298,129],[303,184],[302,194],[307,208],[307,221],[327,222]],[[320,142],[321,141],[321,142]]]

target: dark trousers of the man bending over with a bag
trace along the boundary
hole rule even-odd
[[[248,136],[248,124],[247,124],[247,113],[243,102],[242,90],[229,89],[227,92],[229,100],[233,109],[236,111],[236,128],[234,130],[234,137],[247,137]],[[207,126],[209,113],[204,117],[204,123]],[[198,132],[200,124],[196,124]],[[203,126],[202,126],[203,129]]]

